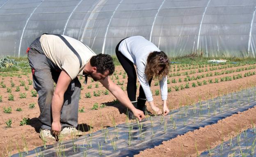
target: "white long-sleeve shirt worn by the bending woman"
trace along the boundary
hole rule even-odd
[[[142,36],[133,36],[123,40],[120,43],[118,50],[137,66],[139,83],[143,88],[146,99],[148,102],[153,101],[149,82],[146,80],[145,66],[149,53],[153,51],[159,52],[160,50],[158,47]],[[160,80],[160,90],[162,100],[167,100],[167,76]]]

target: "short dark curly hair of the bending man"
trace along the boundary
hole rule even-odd
[[[97,73],[104,74],[108,70],[109,75],[114,73],[114,62],[110,55],[107,54],[98,54],[91,57],[90,60],[91,66],[97,68]]]

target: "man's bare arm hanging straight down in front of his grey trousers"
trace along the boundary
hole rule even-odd
[[[52,116],[53,116],[53,123],[52,123],[52,130],[53,133],[59,134],[61,131],[61,124],[60,124],[60,112],[62,110],[62,105],[64,102],[64,93],[66,92],[69,84],[71,82],[71,77],[63,71],[60,73],[56,88],[53,92],[53,100],[52,100]]]

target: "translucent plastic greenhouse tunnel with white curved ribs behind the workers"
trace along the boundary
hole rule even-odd
[[[255,57],[256,0],[0,0],[0,55],[24,56],[43,33],[96,53],[142,35],[169,57]]]

